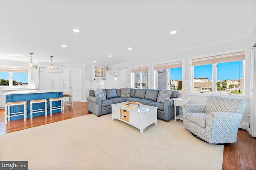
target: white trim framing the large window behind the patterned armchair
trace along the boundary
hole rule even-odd
[[[205,54],[205,55],[200,55],[200,56],[194,56],[194,57],[188,57],[188,75],[190,75],[190,77],[188,78],[188,80],[193,79],[193,69],[192,69],[192,59],[197,59],[197,58],[203,58],[203,57],[209,57],[209,56],[215,56],[215,55],[223,55],[223,54],[228,54],[228,53],[237,53],[240,51],[244,51],[245,52],[245,60],[243,61],[243,74],[242,74],[242,78],[243,78],[243,94],[220,94],[220,93],[216,93],[216,92],[211,92],[211,93],[200,93],[200,92],[192,92],[191,90],[187,90],[188,91],[188,95],[191,96],[210,96],[210,95],[217,95],[217,96],[229,96],[229,97],[236,97],[236,98],[242,98],[242,99],[247,99],[250,100],[250,83],[248,83],[248,79],[250,79],[250,68],[251,65],[251,49],[250,47],[245,47],[245,48],[240,48],[240,49],[234,49],[234,50],[229,50],[229,51],[222,51],[222,52],[217,52],[217,53],[210,53],[210,54]],[[247,69],[246,69],[247,68]],[[183,71],[182,71],[183,72]],[[183,75],[182,75],[183,76]],[[213,75],[214,76],[214,75]],[[217,75],[216,75],[217,76]],[[182,77],[183,78],[183,77]],[[212,77],[212,79],[214,80],[214,77]],[[245,84],[245,82],[247,82]],[[192,83],[192,88],[193,87],[193,83]]]

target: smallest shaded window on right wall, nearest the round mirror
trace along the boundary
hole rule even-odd
[[[134,88],[148,88],[148,66],[132,68]]]

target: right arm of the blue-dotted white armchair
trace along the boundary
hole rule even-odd
[[[206,139],[210,143],[235,143],[242,113],[210,112],[206,117]],[[227,140],[228,139],[228,140]]]

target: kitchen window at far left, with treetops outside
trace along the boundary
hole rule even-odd
[[[28,69],[0,68],[0,86],[28,86]]]

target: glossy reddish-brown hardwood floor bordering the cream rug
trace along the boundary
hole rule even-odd
[[[54,116],[36,116],[33,120],[27,119],[27,121],[18,119],[5,125],[4,109],[0,109],[0,135],[88,114],[91,113],[87,109],[87,102],[74,102],[74,109],[65,106],[64,114],[59,112],[54,113]],[[256,138],[248,131],[239,129],[237,142],[224,145],[222,169],[256,170]]]

